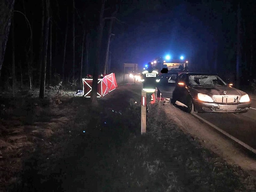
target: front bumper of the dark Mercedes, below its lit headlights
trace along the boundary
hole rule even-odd
[[[217,113],[245,113],[249,110],[251,102],[248,103],[209,103],[194,99],[194,108],[198,112]]]

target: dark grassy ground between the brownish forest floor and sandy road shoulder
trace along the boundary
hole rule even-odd
[[[8,191],[256,191],[254,178],[166,119],[160,102],[141,136],[140,91],[119,86],[98,108],[81,97],[63,100],[55,109],[72,111],[69,121],[48,138],[50,152],[38,145],[23,159]]]

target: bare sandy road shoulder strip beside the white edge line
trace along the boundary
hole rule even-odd
[[[248,157],[233,141],[169,103],[164,103],[162,107],[168,118],[174,120],[184,133],[197,138],[205,148],[223,157],[228,163],[240,166],[250,175],[256,174],[256,161]]]

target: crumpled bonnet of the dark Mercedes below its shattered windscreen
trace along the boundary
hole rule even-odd
[[[193,89],[197,91],[198,93],[203,93],[209,96],[213,95],[238,95],[242,96],[245,95],[246,93],[238,90],[233,87],[229,86],[221,86],[221,85],[214,85],[214,86],[193,86],[190,87],[190,89]],[[226,94],[224,94],[224,91],[227,91]]]

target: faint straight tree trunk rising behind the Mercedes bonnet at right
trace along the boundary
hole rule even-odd
[[[236,39],[236,87],[240,88],[240,62],[241,62],[241,11],[237,8],[237,39]]]

